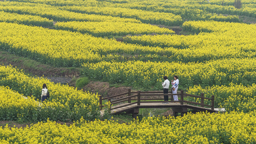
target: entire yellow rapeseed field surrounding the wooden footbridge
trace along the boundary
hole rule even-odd
[[[0,143],[255,144],[255,23],[253,0],[0,0],[0,51],[133,90],[162,90],[163,76],[177,75],[178,90],[214,95],[226,110],[122,123],[109,102],[100,111],[97,93],[0,55],[0,120],[33,123],[0,126]],[[44,83],[50,98],[41,102]]]

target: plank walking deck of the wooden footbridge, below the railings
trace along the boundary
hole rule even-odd
[[[118,104],[116,106],[112,106],[112,108],[126,105],[126,104],[128,104],[128,103]],[[188,104],[181,105],[180,103],[173,103],[173,102],[169,102],[169,104],[163,104],[161,102],[147,102],[147,103],[142,102],[142,103],[140,103],[140,106],[138,106],[137,104],[132,104],[130,106],[116,108],[114,110],[111,110],[111,114],[119,114],[119,113],[126,112],[129,110],[135,109],[135,108],[192,108],[192,109],[197,109],[200,111],[207,110],[208,112],[218,111],[218,110],[211,110],[210,108],[204,108],[204,107],[200,107],[200,106],[191,106]]]

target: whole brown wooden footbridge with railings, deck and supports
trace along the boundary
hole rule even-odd
[[[171,100],[164,101],[164,95],[168,95]],[[179,97],[178,101],[173,100],[173,95],[177,95]],[[172,108],[175,115],[181,113],[182,116],[188,112],[188,109],[192,109],[193,112],[218,111],[216,109],[214,110],[214,96],[206,98],[204,97],[204,93],[201,93],[201,96],[194,96],[184,93],[183,90],[177,94],[171,94],[171,92],[169,92],[169,94],[164,94],[162,91],[131,92],[131,89],[128,89],[128,92],[123,94],[109,96],[106,98],[99,96],[99,98],[101,114],[104,112],[102,107],[106,106],[102,105],[102,102],[108,101],[111,103],[108,110],[111,114],[126,112],[131,113],[134,118],[137,117],[140,108]],[[191,98],[195,99],[192,101]],[[200,103],[196,102],[196,99],[200,99]],[[210,103],[210,105],[205,104],[205,101]]]

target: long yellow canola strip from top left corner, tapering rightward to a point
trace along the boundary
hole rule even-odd
[[[18,14],[29,14],[42,16],[44,18],[56,21],[113,21],[113,22],[137,22],[140,20],[132,18],[119,18],[113,16],[101,16],[96,14],[81,14],[60,10],[58,7],[48,6],[46,4],[30,4],[26,2],[0,2],[0,10],[5,12],[14,12]]]

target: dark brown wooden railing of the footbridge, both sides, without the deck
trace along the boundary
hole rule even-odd
[[[110,105],[110,110],[122,108],[124,106],[129,106],[132,104],[137,104],[138,106],[140,106],[140,103],[147,103],[147,102],[180,102],[180,105],[184,105],[184,103],[195,104],[195,105],[200,105],[201,107],[205,107],[205,106],[210,107],[211,110],[214,110],[214,96],[212,96],[211,98],[206,98],[206,97],[204,97],[204,93],[201,93],[200,96],[195,96],[195,95],[191,95],[191,94],[186,94],[186,93],[184,93],[183,90],[180,90],[180,93],[177,93],[177,94],[171,94],[171,93],[172,92],[170,92],[169,94],[164,94],[163,91],[131,92],[131,89],[128,89],[128,92],[126,92],[126,93],[117,94],[114,96],[108,96],[106,98],[102,98],[102,96],[99,95],[100,109],[102,109],[102,107],[105,106],[105,105],[102,105],[102,101],[108,100],[108,102],[110,102],[111,105],[127,102],[126,104],[120,104],[118,106],[114,106],[113,108]],[[174,101],[174,100],[164,101],[163,98],[148,98],[150,96],[156,97],[156,96],[166,96],[166,95],[168,95],[168,96],[177,95],[177,96],[180,96],[180,99],[178,101]],[[200,98],[201,101],[199,103],[199,102],[192,102],[192,101],[184,100],[184,97],[188,97],[188,96],[194,97],[194,98]],[[114,100],[112,100],[112,99],[114,99]],[[204,99],[210,100],[211,105],[204,104]]]

